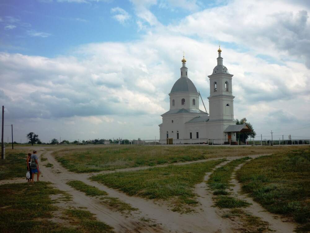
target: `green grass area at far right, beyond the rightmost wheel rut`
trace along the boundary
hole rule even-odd
[[[242,190],[269,212],[292,217],[310,232],[310,148],[263,156],[246,163],[237,178]]]

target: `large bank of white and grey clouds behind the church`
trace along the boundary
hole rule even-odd
[[[0,53],[5,90],[0,98],[6,98],[8,117],[31,118],[38,125],[50,122],[48,132],[53,126],[78,137],[90,131],[98,137],[100,132],[111,137],[158,135],[183,51],[188,76],[209,112],[207,75],[216,65],[215,42],[221,41],[224,65],[234,75],[235,118],[246,117],[259,126],[257,133],[307,120],[308,8],[289,1],[231,1],[165,27],[149,11],[157,1],[131,2],[140,26],[153,28],[139,40],[85,44],[56,58]],[[81,129],[67,128],[73,124]]]

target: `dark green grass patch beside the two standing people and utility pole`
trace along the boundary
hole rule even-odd
[[[6,159],[0,159],[0,180],[25,177],[27,155],[19,149],[6,149]]]

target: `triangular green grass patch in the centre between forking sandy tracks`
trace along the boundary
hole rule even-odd
[[[220,162],[223,160],[100,174],[92,176],[91,180],[129,195],[138,195],[148,199],[170,199],[173,202],[173,211],[188,212],[191,208],[183,208],[184,206],[197,205],[193,193],[194,186],[202,182],[205,173],[211,171]]]

